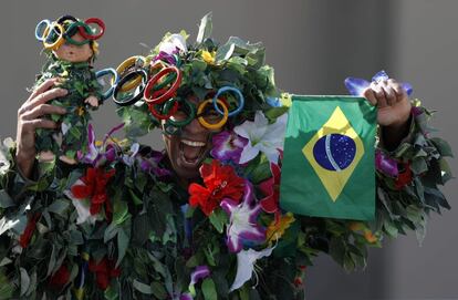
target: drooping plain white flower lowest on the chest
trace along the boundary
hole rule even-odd
[[[230,291],[237,290],[243,286],[247,280],[251,278],[253,273],[254,263],[258,259],[268,257],[272,254],[274,247],[266,248],[262,251],[256,251],[253,249],[241,250],[237,254],[237,275],[233,280]]]

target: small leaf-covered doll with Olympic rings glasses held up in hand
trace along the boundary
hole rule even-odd
[[[90,23],[97,24],[101,32],[93,33]],[[59,77],[58,85],[67,90],[65,96],[49,103],[66,110],[65,115],[51,115],[60,128],[37,132],[37,153],[42,162],[59,156],[64,163],[75,164],[76,153],[86,148],[89,110],[96,110],[102,102],[102,86],[91,63],[97,54],[95,40],[103,33],[104,24],[96,18],[82,22],[64,15],[55,22],[43,20],[37,25],[35,35],[43,42],[49,58],[34,86]]]

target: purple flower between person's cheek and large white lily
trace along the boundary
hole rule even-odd
[[[214,148],[210,154],[219,161],[232,161],[239,163],[243,147],[248,139],[235,132],[223,131],[212,137]]]

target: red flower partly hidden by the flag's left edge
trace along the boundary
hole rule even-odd
[[[266,213],[273,214],[279,210],[280,198],[280,166],[270,164],[272,177],[262,182],[259,185],[259,189],[266,195],[260,200],[261,207]]]

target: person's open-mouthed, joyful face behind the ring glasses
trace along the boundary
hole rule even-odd
[[[198,105],[197,99],[188,101]],[[220,116],[215,112],[207,112],[206,120],[216,123]],[[173,115],[175,120],[181,120],[185,116],[181,112]],[[164,126],[165,122],[163,122]],[[163,127],[164,130],[164,127]],[[181,127],[181,134],[166,135],[163,134],[168,158],[171,167],[180,179],[194,179],[199,177],[199,167],[205,158],[208,157],[212,148],[211,137],[219,131],[210,131],[204,127],[197,118]]]

